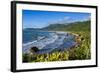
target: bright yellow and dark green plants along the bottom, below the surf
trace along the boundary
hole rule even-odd
[[[53,52],[50,54],[37,54],[34,55],[23,54],[23,62],[49,62],[49,61],[66,61],[69,58],[68,51]]]

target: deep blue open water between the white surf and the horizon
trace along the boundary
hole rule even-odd
[[[23,43],[32,42],[38,40],[39,37],[51,37],[51,32],[41,31],[41,30],[23,30]]]

